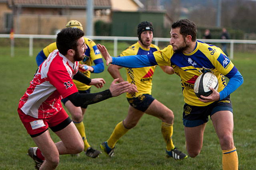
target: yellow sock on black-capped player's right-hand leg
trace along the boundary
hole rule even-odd
[[[162,122],[161,131],[164,137],[164,141],[166,142],[166,149],[168,151],[174,149],[174,145],[172,143],[172,131],[173,131],[172,124]]]

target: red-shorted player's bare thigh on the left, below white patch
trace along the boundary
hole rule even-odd
[[[32,137],[32,139],[36,143],[36,146],[44,154],[46,160],[59,157],[58,149],[50,137],[49,130],[45,131],[37,137]]]

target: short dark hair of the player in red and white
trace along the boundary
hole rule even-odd
[[[69,49],[76,50],[77,41],[84,36],[84,31],[78,28],[64,28],[56,38],[57,49],[62,55],[66,55]]]

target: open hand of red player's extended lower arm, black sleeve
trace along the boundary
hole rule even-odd
[[[113,80],[113,82],[110,84],[110,93],[112,97],[119,96],[120,94],[123,94],[127,92],[131,86],[131,84],[127,81],[116,83],[119,78],[116,78]]]

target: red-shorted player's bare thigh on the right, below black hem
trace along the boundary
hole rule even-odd
[[[64,129],[55,133],[58,135],[58,137],[60,137],[62,143],[68,149],[80,148],[84,145],[82,137],[73,122],[71,122]]]

